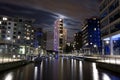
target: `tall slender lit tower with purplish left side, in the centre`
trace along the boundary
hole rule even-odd
[[[54,50],[63,53],[67,40],[67,30],[63,27],[63,19],[58,19],[54,27]]]

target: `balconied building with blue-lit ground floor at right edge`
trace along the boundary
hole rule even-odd
[[[99,6],[102,53],[120,54],[120,0],[102,0]]]

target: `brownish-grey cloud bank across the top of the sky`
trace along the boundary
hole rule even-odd
[[[98,0],[2,0],[22,6],[44,9],[60,13],[75,19],[84,19],[86,16],[97,15]],[[80,16],[80,17],[79,17]]]

